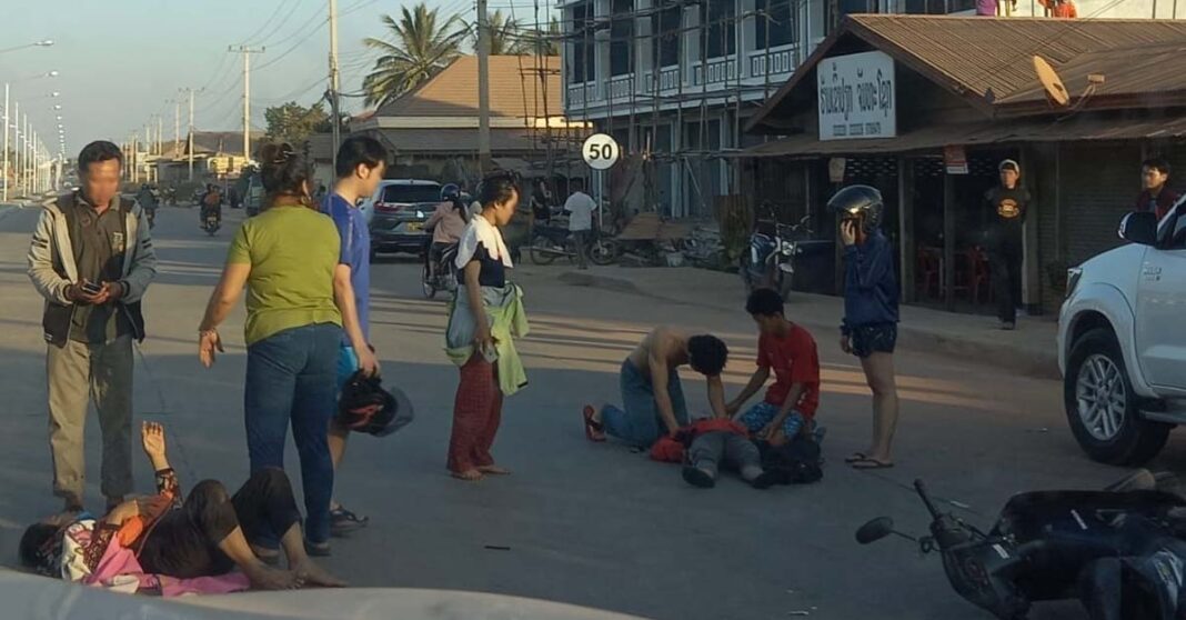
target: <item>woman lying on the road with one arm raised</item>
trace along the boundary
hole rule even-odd
[[[197,580],[238,568],[251,588],[293,589],[345,586],[305,552],[300,512],[282,469],[260,469],[234,496],[216,480],[198,482],[181,502],[177,474],[165,455],[165,429],[144,423],[141,443],[157,472],[157,494],[126,501],[103,519],[76,519],[30,526],[20,539],[20,562],[46,576],[113,586],[117,576],[167,576]],[[251,551],[260,537],[280,537],[288,570],[264,564]],[[153,580],[141,578],[141,584]],[[162,594],[243,589],[234,580],[177,587],[155,580]]]

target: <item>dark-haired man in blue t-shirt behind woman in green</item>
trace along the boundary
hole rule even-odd
[[[333,296],[342,311],[342,349],[338,355],[338,388],[362,369],[378,373],[378,360],[370,347],[368,320],[370,315],[370,232],[358,202],[369,198],[378,188],[387,170],[387,148],[378,140],[366,137],[347,138],[338,148],[338,181],[333,192],[325,197],[321,209],[333,219],[342,236],[342,255],[333,273]],[[346,453],[350,429],[330,423],[330,456],[337,472]],[[338,504],[330,504],[330,531],[342,536],[366,525],[359,517]]]

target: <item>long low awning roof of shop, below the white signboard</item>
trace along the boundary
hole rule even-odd
[[[798,134],[746,150],[750,157],[844,156],[937,151],[946,145],[986,146],[1014,143],[1107,141],[1186,138],[1186,118],[984,121],[933,125],[897,138],[818,140]]]

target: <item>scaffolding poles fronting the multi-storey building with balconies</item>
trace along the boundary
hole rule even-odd
[[[740,147],[741,140],[741,119],[747,115],[748,112],[757,108],[760,102],[747,102],[746,95],[752,95],[755,93],[761,93],[763,100],[769,97],[771,91],[770,76],[772,72],[771,64],[771,29],[772,27],[796,27],[799,25],[799,15],[804,8],[802,0],[790,0],[789,13],[791,15],[790,24],[779,24],[772,13],[772,4],[777,0],[758,0],[755,10],[741,12],[734,5],[732,14],[722,17],[713,17],[713,12],[709,10],[709,5],[713,4],[712,0],[665,0],[658,2],[648,8],[636,8],[631,5],[629,12],[616,12],[613,2],[611,2],[611,11],[608,15],[595,15],[594,0],[587,0],[585,2],[576,2],[569,5],[565,8],[563,21],[567,26],[565,32],[559,37],[562,45],[580,45],[582,48],[580,53],[567,53],[565,55],[566,61],[570,59],[573,63],[580,63],[582,67],[572,67],[574,71],[579,71],[578,75],[582,78],[579,84],[565,83],[563,88],[569,91],[570,86],[579,86],[582,91],[581,101],[581,120],[582,125],[589,125],[589,88],[591,83],[597,80],[595,75],[589,75],[589,69],[592,68],[595,72],[598,65],[595,58],[600,56],[601,44],[605,44],[605,50],[608,51],[608,57],[612,58],[613,49],[616,43],[626,43],[630,45],[629,57],[630,57],[630,71],[626,74],[613,75],[612,69],[606,71],[608,74],[608,80],[605,81],[601,87],[605,89],[604,107],[605,107],[605,131],[610,134],[617,133],[620,128],[618,122],[618,113],[616,113],[616,105],[619,105],[619,100],[623,99],[616,93],[616,84],[620,75],[626,76],[626,94],[629,106],[626,112],[626,148],[625,152],[630,157],[637,157],[642,162],[642,175],[643,175],[643,192],[644,192],[644,205],[639,211],[656,211],[658,210],[659,198],[658,198],[658,185],[656,182],[656,176],[658,173],[657,166],[659,164],[669,164],[669,170],[671,175],[677,175],[683,177],[686,182],[678,183],[678,186],[687,188],[687,195],[681,195],[678,198],[687,205],[689,205],[689,211],[699,214],[712,214],[714,211],[713,201],[714,196],[707,195],[708,189],[703,186],[703,181],[707,175],[721,173],[720,170],[710,171],[706,170],[706,165],[710,162],[725,162],[723,170],[723,183],[725,183],[725,195],[738,195],[741,189],[741,162],[735,156]],[[580,11],[573,11],[573,7],[582,7]],[[695,7],[697,10],[697,17],[695,24],[686,24],[687,10]],[[678,10],[680,19],[674,27],[667,24],[663,15],[671,10]],[[655,18],[655,19],[651,19]],[[645,29],[645,32],[638,32],[638,25],[642,19],[648,19],[650,21],[650,27]],[[627,34],[625,37],[617,37],[614,33],[613,24],[623,20],[629,20],[631,26],[627,29]],[[760,20],[757,27],[760,27],[765,32],[765,45],[763,46],[763,83],[744,83],[742,76],[746,74],[744,70],[744,58],[745,55],[741,50],[740,29],[747,25],[747,20]],[[608,31],[600,34],[602,31]],[[755,29],[757,32],[757,29]],[[722,48],[726,48],[732,43],[732,51],[725,51],[721,56],[713,56],[713,58],[723,57],[726,58],[725,64],[725,76],[722,86],[713,87],[709,89],[709,43],[710,37],[718,37],[721,42]],[[676,53],[676,76],[677,78],[672,84],[675,93],[665,94],[665,91],[671,90],[663,88],[663,75],[667,72],[664,69],[669,67],[663,64],[663,45],[662,42],[677,38],[680,40],[678,52]],[[691,55],[687,52],[687,44],[693,39],[699,40],[699,65],[695,65],[695,61],[691,61]],[[803,37],[799,32],[795,33],[795,45],[792,48],[793,62],[792,67],[799,64],[802,58],[803,46],[805,42],[802,40]],[[649,45],[651,51],[651,70],[650,75],[646,76],[645,71],[639,75],[639,67],[637,63],[637,56],[639,51],[639,45],[637,42],[642,42],[643,45]],[[649,43],[648,43],[649,42]],[[575,51],[575,50],[574,50]],[[612,59],[611,59],[612,63]],[[733,65],[733,76],[729,78],[729,64]],[[650,81],[650,91],[640,93],[639,84],[644,78]],[[697,83],[699,80],[699,83]],[[690,82],[691,88],[686,88],[686,83]],[[699,86],[699,88],[696,88]],[[649,101],[648,101],[649,100]],[[716,102],[720,103],[716,103]],[[713,102],[710,105],[710,102]],[[642,103],[642,105],[640,105]],[[649,103],[649,110],[644,110],[644,106]],[[659,126],[667,125],[671,120],[667,113],[674,109],[674,125],[670,126],[670,139],[668,140],[668,148],[665,152],[658,148],[658,135]],[[686,113],[688,110],[695,110],[697,119],[697,126],[693,129],[690,125],[686,122]],[[569,108],[572,112],[572,108]],[[715,146],[712,145],[714,140],[709,139],[709,126],[718,121],[714,118],[714,113],[719,112],[719,120],[722,124],[732,121],[731,132],[718,132],[721,137]],[[639,116],[649,115],[650,124],[646,125],[646,120],[639,122]],[[663,121],[663,122],[661,122]],[[640,131],[643,128],[649,131]],[[691,133],[694,131],[694,134]],[[723,135],[732,135],[734,144],[727,144]],[[693,139],[693,135],[695,138]],[[576,138],[576,137],[570,137]],[[691,208],[696,205],[699,208]],[[671,201],[672,213],[678,210],[675,200]]]

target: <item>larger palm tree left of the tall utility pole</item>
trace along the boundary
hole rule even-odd
[[[383,15],[387,38],[363,39],[364,45],[380,52],[374,70],[363,78],[368,106],[382,107],[419,87],[461,53],[465,31],[458,29],[457,15],[438,25],[436,10],[429,11],[423,2],[410,12],[404,7],[401,13],[398,23]]]

